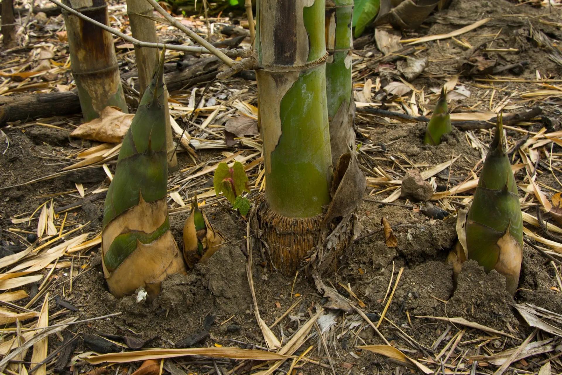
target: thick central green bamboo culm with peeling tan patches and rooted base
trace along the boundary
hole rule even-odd
[[[266,176],[260,222],[274,265],[288,271],[316,245],[330,202],[325,2],[310,3],[262,0],[256,12]]]

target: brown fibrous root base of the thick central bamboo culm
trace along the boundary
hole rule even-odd
[[[257,197],[256,205],[258,225],[268,244],[271,262],[279,271],[293,274],[318,244],[324,215],[288,218],[273,211],[265,195]]]

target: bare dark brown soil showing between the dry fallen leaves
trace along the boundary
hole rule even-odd
[[[478,16],[474,10],[478,9]],[[514,2],[505,0],[497,1],[460,1],[454,0],[448,10],[440,12],[437,16],[445,23],[432,22],[429,28],[418,32],[405,32],[404,38],[419,35],[433,35],[448,33],[462,26],[451,24],[450,20],[464,20],[474,22],[481,16],[492,17],[490,25],[470,31],[463,37],[474,45],[484,40],[489,40],[490,35],[500,31],[503,40],[498,40],[496,48],[516,48],[517,53],[496,52],[495,56],[505,64],[528,61],[529,65],[518,78],[534,79],[536,71],[543,77],[559,76],[561,69],[551,61],[547,53],[536,46],[528,37],[528,26],[525,26],[518,17],[506,17],[509,14],[525,14],[528,16],[543,15],[548,12],[547,7],[532,7],[529,4],[516,6]],[[470,15],[470,19],[466,19]],[[506,19],[509,18],[509,19]],[[447,20],[448,23],[447,23]],[[525,29],[527,27],[527,29]],[[560,31],[549,25],[543,25],[545,32],[560,35]],[[424,44],[427,47],[420,52],[420,57],[428,56],[430,64],[425,74],[412,83],[416,88],[438,87],[448,76],[456,73],[456,61],[466,51],[465,48],[454,43],[451,39]],[[376,52],[373,44],[369,44],[361,56],[366,52]],[[368,69],[367,69],[368,70]],[[361,71],[361,83],[364,78],[373,78],[380,71]],[[383,74],[382,72],[381,74]],[[502,73],[514,76],[509,72]],[[460,83],[466,85],[471,92],[470,98],[453,104],[454,111],[484,111],[488,109],[489,96],[482,105],[477,105],[484,93],[490,90],[490,84],[476,82],[472,78],[460,78]],[[225,84],[235,87],[239,81],[226,81]],[[524,92],[528,86],[521,83],[507,82],[497,87],[498,97],[508,96],[510,92]],[[256,105],[255,102],[253,104]],[[545,106],[545,114],[554,116],[560,110],[558,105]],[[560,112],[558,112],[560,113]],[[8,126],[4,133],[10,139],[10,147],[0,156],[0,240],[15,243],[25,247],[25,237],[35,231],[37,222],[31,224],[12,224],[11,218],[16,215],[27,216],[37,209],[46,200],[53,199],[55,207],[61,207],[80,199],[75,190],[75,183],[83,183],[87,191],[108,186],[108,179],[101,166],[85,171],[58,174],[61,168],[75,160],[72,156],[83,147],[91,144],[76,142],[70,139],[69,133],[75,124],[79,124],[78,117],[67,117],[62,121],[52,123],[62,129],[49,128],[34,123],[29,126]],[[459,156],[450,168],[436,175],[435,186],[437,191],[471,178],[476,172],[475,166],[482,159],[479,150],[469,144],[466,132],[453,130],[444,137],[443,142],[436,147],[424,145],[423,134],[425,123],[389,123],[389,121],[359,114],[357,126],[360,129],[358,141],[364,144],[379,145],[379,151],[369,153],[380,165],[393,168],[396,178],[404,177],[405,171],[397,168],[391,157],[404,155],[410,165],[406,168],[417,168],[423,171],[431,166],[450,161]],[[17,124],[16,124],[17,125]],[[542,124],[532,124],[529,129],[537,131]],[[556,129],[559,130],[559,129]],[[483,144],[491,141],[491,132],[475,132]],[[518,132],[507,133],[510,144],[514,144],[524,137]],[[562,147],[554,146],[554,152],[562,152]],[[200,160],[208,160],[217,156],[214,151],[198,152]],[[192,165],[184,153],[178,155],[181,168]],[[368,169],[373,168],[373,160],[365,155],[360,157],[360,162]],[[404,160],[404,159],[402,159]],[[110,164],[114,172],[115,165]],[[57,175],[58,174],[58,175]],[[26,183],[32,178],[47,177],[35,183]],[[517,174],[516,178],[522,178]],[[208,178],[208,176],[207,176]],[[562,188],[550,173],[537,176],[537,182],[547,186]],[[20,186],[10,187],[21,184]],[[381,188],[368,187],[365,198],[382,200],[391,192],[380,193]],[[549,192],[550,194],[551,192]],[[466,193],[467,195],[469,193]],[[524,247],[522,273],[519,289],[515,296],[505,292],[505,278],[492,271],[485,273],[474,261],[463,265],[456,285],[452,275],[452,266],[446,262],[448,252],[456,242],[456,213],[449,210],[443,220],[428,218],[420,212],[418,204],[404,199],[395,202],[396,205],[380,204],[378,202],[362,202],[359,208],[359,219],[364,230],[362,237],[357,240],[342,257],[335,273],[325,277],[324,282],[332,284],[344,296],[356,301],[341,284],[351,287],[355,295],[365,304],[363,310],[371,320],[379,317],[388,301],[388,295],[393,291],[397,274],[404,268],[400,282],[392,294],[392,302],[388,306],[380,332],[399,347],[409,347],[413,357],[418,348],[404,339],[404,336],[393,326],[395,324],[407,333],[418,345],[432,348],[437,338],[442,333],[448,332],[441,342],[433,348],[436,353],[453,340],[454,335],[465,327],[451,326],[448,322],[427,317],[461,317],[483,324],[484,326],[510,333],[518,339],[524,339],[532,328],[519,316],[513,304],[527,302],[542,308],[560,312],[562,311],[562,293],[556,289],[558,282],[552,267],[547,264],[544,257],[535,250]],[[457,207],[458,208],[458,207]],[[69,212],[68,225],[78,225],[90,222],[84,231],[98,233],[101,231],[101,215],[103,212],[103,199],[87,202],[79,209]],[[121,311],[121,315],[111,319],[93,320],[79,324],[72,329],[83,333],[111,333],[114,335],[134,336],[142,340],[150,340],[150,347],[175,347],[178,343],[185,342],[186,338],[193,335],[202,335],[202,339],[193,342],[193,346],[238,346],[238,347],[264,347],[265,342],[257,326],[248,279],[246,275],[246,221],[238,213],[232,211],[226,204],[218,204],[206,209],[206,214],[223,236],[227,243],[211,257],[205,265],[197,264],[192,272],[187,275],[173,275],[162,284],[162,293],[154,301],[137,302],[137,296],[115,299],[108,291],[103,279],[99,246],[80,255],[74,260],[74,275],[78,274],[70,284],[72,275],[69,269],[57,269],[53,273],[57,281],[53,283],[51,295],[63,296],[65,300],[76,306],[79,311],[65,311],[68,317],[76,316],[78,319],[96,318],[102,315]],[[182,247],[182,228],[188,213],[171,214],[171,229]],[[382,218],[391,224],[393,234],[397,238],[396,247],[388,247],[380,224]],[[20,232],[10,232],[9,228],[19,229]],[[273,324],[277,318],[293,305],[297,306],[285,317],[273,332],[283,342],[295,332],[308,318],[308,310],[313,306],[321,306],[325,301],[314,287],[314,283],[306,277],[305,272],[297,275],[284,275],[274,270],[266,254],[261,254],[258,246],[253,247],[253,281],[257,297],[257,305],[261,318],[267,324]],[[45,270],[44,274],[47,274]],[[72,286],[70,290],[70,285]],[[37,291],[37,284],[24,287],[29,293],[33,288]],[[37,308],[36,302],[31,308]],[[52,311],[62,310],[61,307],[51,302]],[[329,329],[327,345],[334,360],[337,374],[388,374],[395,373],[396,363],[390,362],[383,356],[378,356],[367,351],[357,350],[353,345],[378,345],[384,344],[373,328],[350,315],[341,312],[329,311],[334,324]],[[211,318],[214,317],[214,318]],[[332,319],[332,318],[330,318]],[[209,322],[212,321],[212,324]],[[392,324],[392,323],[393,324]],[[375,321],[375,324],[377,322]],[[324,323],[323,323],[324,324]],[[359,327],[359,328],[356,328]],[[345,335],[344,328],[350,329]],[[465,329],[466,330],[466,329]],[[206,332],[209,332],[206,335]],[[312,331],[314,332],[314,330]],[[481,331],[468,330],[463,341],[471,338],[482,337]],[[520,340],[502,337],[502,346],[487,345],[490,353],[501,351],[504,347],[520,345]],[[189,341],[189,340],[188,340]],[[497,340],[496,340],[497,341]],[[49,341],[52,348],[60,344],[56,338]],[[311,352],[312,358],[328,364],[322,344],[316,335],[310,341],[315,349]],[[303,345],[306,349],[308,345]],[[474,348],[465,345],[463,350],[470,349],[469,354],[474,354]],[[88,347],[81,342],[77,351],[88,351]],[[455,356],[461,353],[457,348]],[[522,370],[536,372],[533,358],[529,362],[518,363],[516,367]],[[212,373],[213,364],[210,361],[182,362],[186,373]],[[221,367],[231,369],[230,362],[220,362]],[[282,369],[288,369],[288,363]],[[90,369],[80,363],[80,371]],[[130,369],[132,372],[133,368]],[[329,368],[307,364],[298,370],[303,374],[329,373]],[[404,373],[404,368],[401,370]],[[242,372],[241,372],[242,373]],[[400,373],[398,371],[397,373]]]

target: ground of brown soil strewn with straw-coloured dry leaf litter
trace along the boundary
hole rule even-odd
[[[169,178],[172,230],[179,238],[181,223],[192,206],[186,202],[191,202],[197,193],[198,204],[209,210],[209,219],[225,235],[227,243],[211,257],[209,264],[196,266],[185,277],[176,275],[169,279],[162,296],[152,305],[138,304],[136,296],[121,301],[113,299],[99,274],[101,262],[97,251],[103,200],[94,198],[103,196],[107,189],[108,180],[102,166],[114,170],[119,139],[83,141],[72,137],[69,141],[71,132],[81,124],[79,116],[72,115],[8,124],[2,129],[7,148],[0,159],[3,171],[0,247],[6,254],[0,260],[3,267],[0,300],[3,316],[12,319],[12,323],[7,323],[9,326],[3,333],[0,353],[4,358],[0,366],[21,367],[10,361],[22,358],[24,351],[29,352],[29,361],[36,347],[37,353],[40,352],[36,356],[43,358],[47,338],[49,354],[65,344],[60,333],[69,329],[85,333],[120,332],[143,339],[158,336],[149,345],[163,348],[154,354],[155,359],[160,359],[176,342],[199,333],[201,322],[211,313],[216,320],[209,328],[210,335],[196,343],[201,348],[174,349],[185,350],[184,353],[197,349],[198,356],[165,359],[164,372],[177,373],[180,369],[186,373],[210,372],[216,371],[215,366],[223,373],[234,367],[249,371],[251,361],[233,362],[232,357],[225,355],[213,360],[211,353],[247,348],[255,353],[244,358],[274,355],[265,345],[263,332],[270,335],[268,340],[274,341],[275,337],[283,353],[296,355],[277,362],[271,357],[267,368],[256,369],[263,373],[294,367],[303,373],[326,373],[331,371],[328,356],[338,373],[375,369],[381,373],[393,372],[396,365],[405,372],[407,367],[417,366],[412,361],[423,366],[417,366],[421,371],[429,368],[444,373],[468,373],[473,368],[495,371],[506,362],[510,362],[509,371],[542,373],[549,364],[553,372],[560,372],[562,363],[556,348],[560,345],[557,315],[562,306],[562,286],[556,275],[562,270],[558,264],[545,261],[540,253],[525,246],[519,291],[513,299],[500,292],[499,275],[493,272],[486,275],[474,264],[466,267],[455,290],[452,270],[444,262],[454,245],[457,210],[468,207],[472,199],[471,192],[482,166],[481,151],[489,143],[490,131],[478,127],[470,133],[455,129],[441,145],[429,148],[421,142],[425,123],[398,121],[394,115],[430,116],[437,99],[430,87],[442,84],[450,86],[447,87],[449,99],[454,100],[450,103],[451,120],[457,126],[470,121],[483,126],[500,110],[513,113],[540,105],[540,116],[505,126],[507,144],[520,188],[526,233],[546,254],[560,259],[561,243],[549,238],[535,212],[539,206],[544,214],[542,219],[547,220],[543,227],[552,233],[562,233],[556,216],[562,188],[562,141],[556,116],[562,91],[556,78],[559,71],[556,47],[551,39],[558,32],[559,22],[541,2],[520,6],[503,0],[478,4],[490,18],[475,19],[477,15],[471,11],[473,3],[453,1],[448,10],[432,13],[426,23],[429,28],[392,31],[396,35],[392,38],[386,35],[386,39],[381,31],[377,43],[392,46],[385,53],[378,52],[373,42],[355,51],[353,79],[355,97],[360,99],[356,125],[361,135],[356,144],[362,170],[368,177],[366,197],[371,201],[364,201],[359,211],[365,227],[361,236],[365,237],[341,260],[338,273],[325,281],[343,296],[350,297],[350,301],[357,301],[352,304],[364,304],[365,308],[361,307],[364,313],[361,312],[366,319],[359,313],[342,315],[337,310],[329,313],[316,310],[322,301],[305,275],[287,278],[275,272],[268,265],[266,251],[260,251],[259,242],[244,247],[244,236],[251,241],[255,234],[246,231],[247,222],[233,215],[225,198],[215,196],[212,174],[220,162],[229,166],[234,161],[241,162],[250,179],[251,199],[264,187],[253,80],[234,77],[215,82],[197,109],[195,103],[202,84],[194,83],[170,94],[170,114],[177,125],[174,126],[176,141],[180,142],[179,150],[186,151],[179,154],[180,170],[170,173]],[[124,20],[123,5],[112,4],[110,11],[117,22]],[[180,17],[206,35],[205,20]],[[501,17],[509,20],[501,21]],[[230,20],[217,16],[212,22],[213,37],[226,38],[220,36],[220,28]],[[55,25],[62,25],[60,17],[49,19],[48,24],[34,30],[30,40],[37,43],[39,35],[48,35],[49,28]],[[388,34],[388,30],[382,30]],[[161,25],[158,33],[162,38],[181,35]],[[373,31],[368,29],[367,33]],[[22,52],[11,55],[24,64],[3,65],[2,95],[67,92],[74,88],[65,43],[64,38],[53,35],[44,46],[37,43],[30,55]],[[415,46],[415,58],[420,62],[427,58],[428,62],[424,69],[414,70],[415,74],[419,73],[417,78],[406,83],[396,65],[407,67],[408,60],[394,56],[396,60],[382,64],[379,57],[390,58],[397,47],[401,48],[400,44],[411,43]],[[242,43],[243,47],[249,45],[247,39]],[[480,48],[470,51],[474,46]],[[130,51],[126,43],[117,40],[116,47],[126,69],[134,69],[134,61],[124,58]],[[33,62],[28,59],[30,56],[38,56],[40,60]],[[465,61],[466,56],[472,57],[471,62],[476,66],[476,70],[469,69],[471,74],[491,62],[495,70],[492,75],[466,76],[466,71],[459,70],[457,64]],[[176,52],[167,55],[167,61],[174,64],[185,62],[182,58]],[[201,60],[196,56],[186,58],[189,64]],[[529,64],[523,65],[524,61]],[[510,65],[520,65],[523,69],[493,73],[498,67]],[[126,76],[124,71],[121,74],[134,88],[132,75]],[[134,100],[133,93],[130,91],[128,95]],[[373,105],[391,114],[376,115],[361,110]],[[188,123],[193,111],[193,122]],[[179,139],[178,130],[185,127],[188,130]],[[235,135],[234,144],[229,146],[225,132]],[[419,170],[432,185],[433,203],[449,213],[450,218],[428,218],[422,214],[421,204],[400,198],[401,180],[409,169]],[[30,180],[36,182],[26,184]],[[9,188],[17,184],[21,186]],[[381,230],[382,218],[387,220],[392,236],[386,236],[388,230]],[[387,238],[392,238],[390,243],[396,242],[396,246],[388,246]],[[244,255],[248,249],[255,259],[249,267]],[[395,266],[400,273],[394,272]],[[397,274],[401,277],[397,278]],[[251,288],[248,275],[253,279]],[[251,290],[255,294],[253,303]],[[302,300],[294,305],[296,293]],[[37,328],[43,326],[40,322],[46,316],[42,309],[45,304],[48,304],[49,327]],[[70,306],[79,311],[69,309]],[[254,319],[258,308],[261,328]],[[327,314],[336,313],[333,323],[323,330],[323,340],[312,329],[314,319],[309,311],[316,313],[314,316],[318,315],[319,321]],[[102,318],[117,312],[121,314]],[[12,318],[17,315],[20,323]],[[79,315],[79,319],[96,320],[69,324],[72,323],[69,318],[76,319]],[[281,317],[275,327],[269,328],[268,324]],[[371,323],[379,322],[382,337],[367,319]],[[531,327],[540,329],[534,337]],[[532,338],[522,347],[522,340],[529,337]],[[82,339],[79,340],[76,353],[82,351],[84,356],[73,360],[74,354],[70,353],[66,361],[87,371],[90,368],[84,362],[85,356],[100,357],[98,360],[103,357],[91,353]],[[20,350],[22,342],[25,348]],[[368,354],[365,346],[378,347],[377,353],[381,355]],[[435,349],[428,350],[433,346]],[[205,353],[203,349],[208,350],[207,354],[201,353]],[[143,359],[127,351],[123,353],[125,358],[128,353],[131,358],[123,368],[132,373]],[[385,357],[397,362],[388,362]],[[47,370],[54,362],[52,358],[49,361]],[[107,368],[120,369],[115,364]]]

